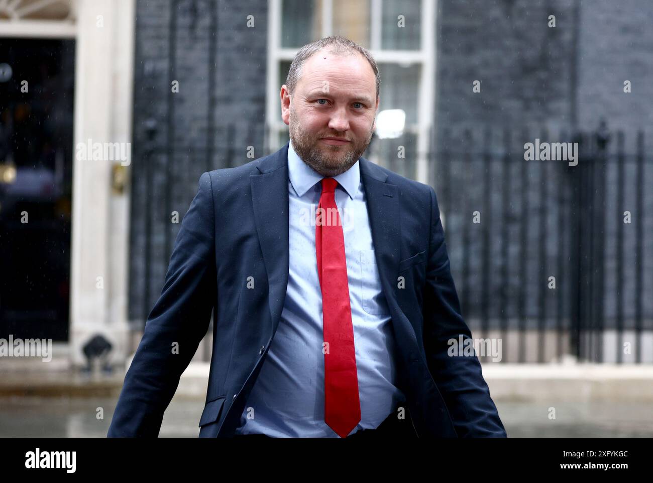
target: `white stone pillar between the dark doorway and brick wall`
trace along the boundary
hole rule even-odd
[[[131,142],[135,0],[79,0],[77,29],[74,146],[89,139]],[[82,347],[95,334],[114,345],[112,362],[122,362],[127,356],[129,185],[123,194],[112,193],[112,164],[119,161],[78,159],[76,148],[74,154],[71,363],[86,363]]]

